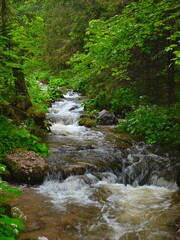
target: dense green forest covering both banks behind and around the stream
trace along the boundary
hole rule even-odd
[[[48,154],[47,102],[64,86],[88,97],[89,114],[114,112],[120,131],[178,148],[179,7],[175,0],[0,0],[0,161],[17,147]]]

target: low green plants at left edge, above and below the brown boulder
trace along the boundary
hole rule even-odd
[[[14,194],[21,192],[8,187],[6,182],[2,181],[1,175],[6,167],[1,162],[10,150],[16,148],[34,150],[44,157],[47,156],[49,150],[38,137],[31,135],[27,129],[12,124],[12,121],[3,115],[0,115],[0,129],[0,239],[16,240],[24,223],[19,216],[13,216],[11,210],[7,213],[6,206],[9,205],[6,202],[12,200]]]

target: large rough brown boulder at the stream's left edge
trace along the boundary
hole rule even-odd
[[[46,160],[33,151],[13,152],[5,164],[16,181],[30,184],[43,182],[50,169]]]

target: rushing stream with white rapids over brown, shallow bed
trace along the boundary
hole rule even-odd
[[[69,92],[47,113],[53,174],[22,186],[15,205],[27,226],[20,239],[172,240],[180,227],[177,158],[110,126],[79,126],[81,101]],[[87,166],[83,174],[63,175],[77,165]]]

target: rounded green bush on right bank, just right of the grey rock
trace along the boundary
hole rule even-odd
[[[131,134],[145,137],[147,143],[180,144],[179,125],[175,112],[166,108],[140,106],[132,112],[127,120],[119,124],[119,128]]]

